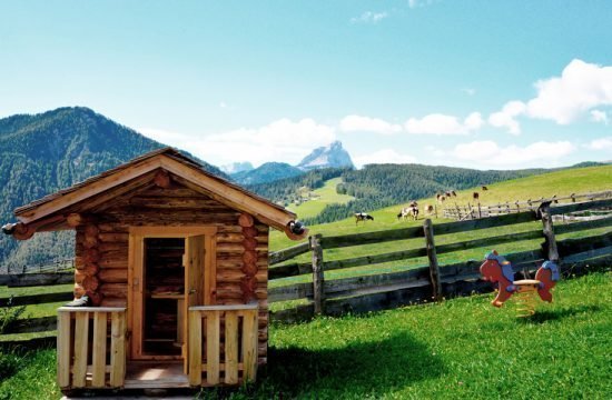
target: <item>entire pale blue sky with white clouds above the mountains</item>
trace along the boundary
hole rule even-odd
[[[612,159],[611,1],[1,1],[0,118],[85,106],[214,164]]]

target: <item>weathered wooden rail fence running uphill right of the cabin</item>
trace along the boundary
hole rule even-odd
[[[364,312],[399,307],[413,302],[440,300],[442,297],[458,296],[473,291],[492,290],[488,282],[480,279],[477,261],[465,261],[450,266],[440,266],[437,254],[476,248],[492,248],[497,244],[543,239],[544,242],[529,251],[506,254],[519,273],[535,271],[537,263],[544,260],[561,262],[563,270],[580,272],[589,263],[606,266],[612,261],[612,232],[588,236],[579,239],[557,241],[561,233],[588,231],[612,226],[612,217],[593,221],[582,221],[553,227],[556,214],[584,211],[593,208],[611,207],[612,199],[553,204],[535,211],[521,211],[500,214],[486,219],[473,219],[434,224],[425,220],[423,227],[356,233],[338,237],[310,237],[307,243],[270,253],[269,279],[280,279],[300,274],[312,274],[312,282],[273,287],[268,291],[268,301],[308,300],[307,304],[284,309],[272,314],[276,320],[302,320],[317,313],[338,316],[347,311]],[[435,244],[435,238],[480,229],[512,226],[524,222],[542,221],[541,229],[454,243]],[[324,250],[344,247],[383,243],[404,239],[422,238],[423,246],[416,249],[355,257],[343,260],[325,261]],[[297,256],[310,252],[310,262],[292,262]],[[371,266],[388,261],[408,260],[426,257],[428,267],[384,274],[359,276],[328,280],[325,272],[336,269]],[[285,262],[282,266],[277,266]],[[277,266],[277,267],[274,267]]]

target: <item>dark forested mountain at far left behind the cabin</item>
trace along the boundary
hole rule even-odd
[[[19,206],[161,147],[82,107],[0,119],[0,222],[13,222],[12,210]],[[216,167],[201,163],[227,178]],[[23,242],[0,234],[0,271],[2,266],[71,257],[71,234],[43,233]]]

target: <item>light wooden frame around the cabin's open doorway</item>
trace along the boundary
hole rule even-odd
[[[205,277],[204,277],[204,303],[205,306],[216,303],[217,287],[217,227],[129,227],[128,246],[128,334],[129,354],[132,360],[168,360],[177,359],[176,356],[145,356],[142,354],[142,277],[145,239],[148,238],[189,238],[194,236],[205,237]],[[186,267],[187,268],[187,267]],[[139,319],[136,320],[136,317]],[[187,316],[184,316],[187,318]],[[138,326],[138,329],[135,329]]]

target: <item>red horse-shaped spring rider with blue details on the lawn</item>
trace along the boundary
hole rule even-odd
[[[519,317],[530,317],[535,313],[535,292],[544,301],[552,302],[551,289],[559,281],[559,267],[552,261],[546,261],[535,272],[535,279],[514,280],[514,271],[510,261],[497,254],[495,250],[485,256],[481,266],[484,280],[499,282],[499,291],[491,302],[495,307],[502,307],[504,301],[514,293],[519,296]]]

